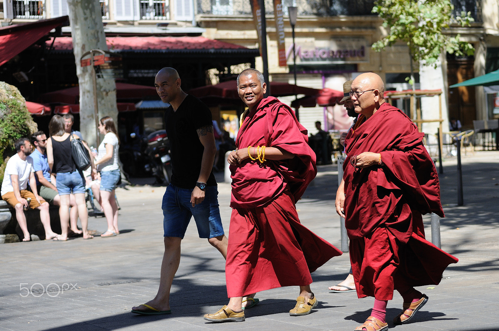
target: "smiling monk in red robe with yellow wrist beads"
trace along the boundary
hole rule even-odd
[[[310,314],[317,299],[310,273],[336,247],[300,224],[296,201],[315,177],[315,154],[294,112],[276,98],[263,98],[266,84],[255,69],[238,77],[239,96],[248,106],[228,158],[232,173],[231,224],[226,262],[229,304],[211,322],[242,322],[242,298],[281,286],[299,286],[291,316]]]

